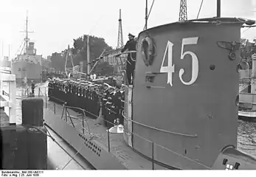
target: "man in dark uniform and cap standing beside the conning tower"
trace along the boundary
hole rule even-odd
[[[132,35],[131,33],[128,34],[129,41],[127,41],[121,52],[125,52],[126,49],[128,49],[128,51],[136,51],[136,41],[134,40],[134,37],[135,35]],[[129,85],[132,84],[131,77],[134,79],[135,60],[136,53],[129,53],[126,60],[126,75]]]

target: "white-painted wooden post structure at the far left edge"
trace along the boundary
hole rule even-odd
[[[4,95],[4,84],[7,85],[9,97]],[[15,82],[15,74],[9,74],[7,72],[3,72],[0,69],[0,108],[9,108],[9,122],[10,124],[16,124],[16,82]]]

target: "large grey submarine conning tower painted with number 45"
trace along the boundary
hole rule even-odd
[[[236,147],[244,23],[204,18],[139,33],[130,129],[141,137],[129,137],[134,150],[170,167],[210,169],[222,148]]]

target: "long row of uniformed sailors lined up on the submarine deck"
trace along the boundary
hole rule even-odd
[[[125,93],[122,87],[114,88],[107,83],[95,84],[89,81],[76,82],[73,80],[50,80],[49,100],[56,103],[66,102],[68,106],[85,110],[85,114],[97,119],[102,108],[105,126],[114,123],[123,125],[122,111],[124,109]]]

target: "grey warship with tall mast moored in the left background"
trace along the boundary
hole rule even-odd
[[[36,54],[35,43],[28,38],[26,20],[26,38],[21,45],[20,55],[12,60],[12,74],[16,76],[17,85],[22,83],[40,83],[42,78],[42,55]],[[22,54],[23,52],[23,54]]]

